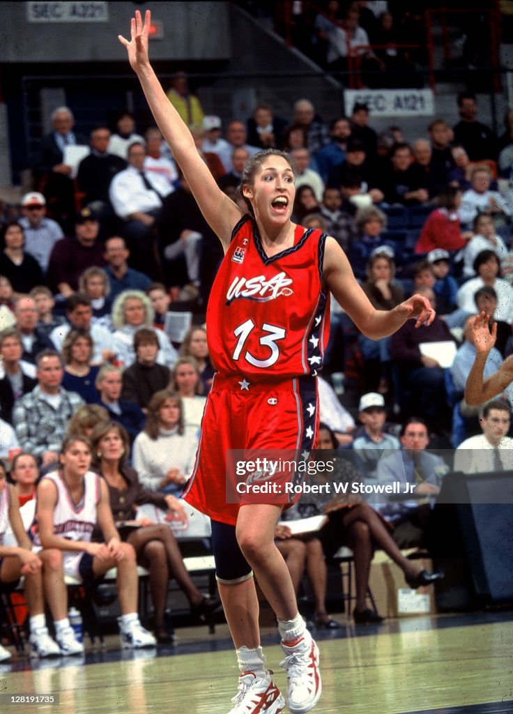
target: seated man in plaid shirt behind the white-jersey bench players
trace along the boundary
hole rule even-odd
[[[39,459],[42,468],[56,463],[68,421],[84,401],[61,387],[64,375],[59,352],[44,350],[36,358],[38,384],[14,406],[13,423],[23,451]]]

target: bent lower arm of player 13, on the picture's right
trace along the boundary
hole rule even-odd
[[[423,323],[430,325],[435,319],[430,301],[420,295],[412,296],[392,310],[376,310],[372,307],[335,238],[327,238],[323,273],[335,300],[367,337],[375,340],[387,337],[410,318],[415,319],[415,327]]]

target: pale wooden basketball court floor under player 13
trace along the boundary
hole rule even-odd
[[[339,620],[345,623],[344,615]],[[323,693],[317,714],[513,714],[513,613],[386,620],[316,633]],[[228,714],[238,671],[226,625],[177,630],[175,645],[119,650],[117,638],[83,658],[0,664],[6,714]],[[268,667],[286,690],[274,628]],[[74,661],[73,661],[74,660]],[[59,695],[59,704],[10,704]],[[285,709],[285,712],[288,711]]]

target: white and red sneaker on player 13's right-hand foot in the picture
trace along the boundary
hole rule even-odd
[[[288,708],[293,714],[305,714],[315,707],[322,692],[318,647],[308,630],[299,640],[281,646],[286,655],[280,665],[287,670]]]

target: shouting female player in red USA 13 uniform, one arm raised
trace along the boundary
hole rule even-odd
[[[149,11],[144,23],[136,11],[131,40],[119,40],[203,216],[225,250],[207,312],[208,346],[217,373],[205,406],[195,473],[184,497],[212,519],[219,592],[241,671],[230,714],[264,709],[277,714],[285,707],[260,648],[253,571],[278,618],[288,707],[293,714],[303,714],[321,693],[318,648],[298,613],[287,566],[273,540],[283,502],[271,498],[255,503],[242,496],[239,503],[227,503],[227,451],[288,449],[304,455],[313,448],[318,423],[315,375],[327,341],[330,291],[358,328],[373,338],[390,335],[410,317],[417,326],[431,323],[435,313],[420,296],[389,312],[375,310],[336,241],[291,222],[295,176],[287,154],[266,149],[246,164],[241,187],[251,215],[243,215],[218,188],[190,131],[166,98],[148,59],[149,29]],[[280,473],[276,488],[285,491],[287,478]]]

